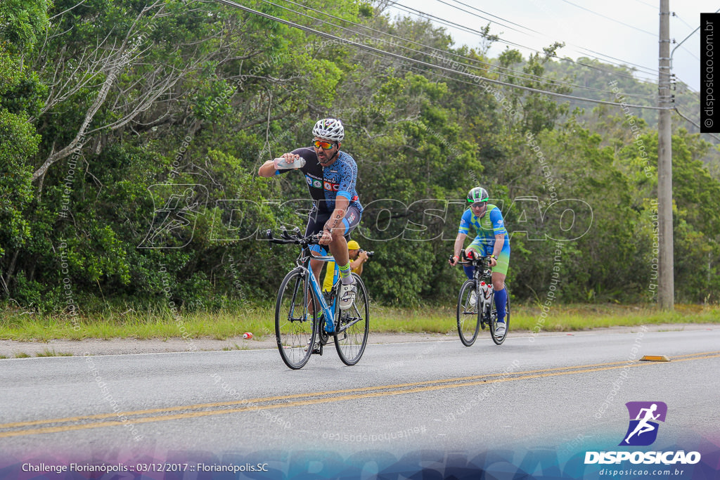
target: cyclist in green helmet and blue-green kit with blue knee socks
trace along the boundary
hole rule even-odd
[[[472,250],[477,256],[490,256],[492,289],[495,290],[495,309],[498,311],[498,326],[495,332],[498,336],[502,336],[506,328],[505,303],[508,300],[508,292],[505,290],[505,276],[508,275],[508,266],[510,266],[510,237],[508,230],[505,230],[503,214],[498,207],[487,203],[488,199],[487,190],[480,186],[468,192],[467,201],[470,208],[462,214],[450,264],[454,266],[459,261],[462,245],[472,225],[477,236],[466,250]],[[472,280],[475,268],[466,266],[464,269],[467,278]],[[470,302],[477,301],[474,296],[473,291]]]

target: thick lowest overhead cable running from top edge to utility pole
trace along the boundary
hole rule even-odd
[[[591,103],[596,103],[596,104],[609,104],[609,105],[614,105],[614,106],[620,106],[620,104],[618,104],[618,103],[616,103],[616,102],[613,102],[613,101],[603,101],[603,100],[595,100],[595,99],[585,99],[585,98],[578,97],[578,96],[558,94],[557,92],[554,92],[554,91],[545,91],[545,90],[540,90],[540,89],[533,89],[533,88],[531,88],[531,87],[522,86],[522,85],[516,85],[516,84],[513,84],[513,83],[506,83],[506,82],[503,82],[503,81],[495,80],[495,79],[493,79],[493,78],[486,78],[486,77],[481,77],[481,76],[477,76],[477,75],[472,75],[471,73],[462,72],[462,71],[455,71],[455,70],[453,70],[452,68],[446,68],[446,67],[443,67],[443,66],[441,66],[441,65],[433,65],[432,63],[423,62],[423,60],[415,60],[414,58],[408,58],[408,57],[405,57],[405,56],[403,56],[403,55],[399,55],[399,54],[397,54],[397,53],[392,53],[392,52],[387,52],[387,51],[385,51],[385,50],[380,50],[380,49],[378,49],[378,48],[371,47],[370,45],[362,45],[362,44],[359,44],[359,43],[351,42],[350,40],[346,40],[346,39],[344,39],[344,38],[342,38],[342,37],[337,37],[336,35],[332,35],[332,34],[329,34],[329,33],[326,33],[326,32],[321,32],[320,30],[315,30],[315,29],[310,28],[310,27],[305,27],[305,25],[298,24],[298,23],[292,22],[292,21],[290,21],[290,20],[286,20],[286,19],[282,19],[282,18],[279,18],[279,17],[275,17],[274,15],[266,14],[266,13],[264,13],[264,12],[258,12],[257,10],[253,10],[253,9],[247,7],[247,6],[243,6],[243,5],[237,4],[237,3],[235,3],[234,1],[231,1],[231,0],[215,0],[215,1],[217,1],[217,2],[220,3],[220,4],[225,4],[225,5],[228,5],[228,6],[232,6],[232,7],[235,8],[235,9],[243,10],[243,12],[248,12],[248,13],[251,13],[251,14],[258,15],[259,17],[264,17],[264,18],[266,18],[266,19],[274,20],[275,22],[279,22],[279,23],[282,23],[282,24],[289,25],[290,27],[297,28],[297,29],[302,30],[302,31],[304,31],[304,32],[310,32],[310,33],[313,33],[313,34],[318,35],[318,36],[320,36],[320,37],[325,37],[325,38],[328,38],[328,39],[330,39],[330,40],[336,40],[337,42],[341,42],[341,43],[343,43],[343,44],[354,45],[355,47],[359,47],[359,48],[362,48],[362,49],[364,49],[364,50],[369,50],[369,51],[372,51],[372,52],[375,52],[375,53],[381,53],[382,55],[387,55],[387,56],[390,56],[390,57],[393,57],[393,58],[397,58],[398,60],[405,60],[405,61],[408,61],[408,62],[417,63],[418,65],[425,65],[425,66],[428,66],[428,67],[431,67],[431,68],[438,68],[439,70],[448,71],[448,72],[451,72],[451,73],[456,73],[456,74],[459,74],[459,75],[462,75],[462,76],[469,76],[469,77],[473,77],[473,78],[480,78],[480,81],[486,81],[486,82],[489,82],[489,83],[495,83],[495,84],[497,84],[497,85],[503,85],[503,86],[507,86],[507,87],[510,87],[510,88],[513,88],[513,89],[521,89],[521,90],[526,90],[526,91],[532,91],[532,92],[539,93],[539,94],[546,94],[546,95],[551,95],[551,96],[558,96],[558,97],[560,97],[560,98],[575,99],[575,100],[582,100],[582,101],[590,101]],[[626,105],[624,105],[624,107],[634,107],[634,108],[639,108],[639,109],[651,109],[651,110],[661,110],[661,109],[662,109],[662,108],[660,108],[660,107],[649,107],[649,106],[646,106],[646,105],[627,105],[627,104],[626,104]]]

